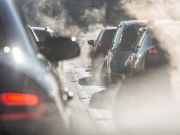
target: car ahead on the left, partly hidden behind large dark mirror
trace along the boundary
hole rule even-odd
[[[39,51],[44,50],[44,45],[42,45],[41,43],[45,42],[46,39],[58,37],[55,34],[55,32],[49,27],[32,27],[28,25],[28,32],[32,35],[32,37],[34,37],[33,39],[36,42],[37,49]],[[71,95],[73,95],[73,92],[70,91],[69,88],[64,85],[62,68],[59,67],[59,61],[51,62],[42,53],[38,54],[38,59],[42,62],[42,64],[44,64],[47,70],[50,70],[54,74],[54,76],[59,80],[59,85],[62,88],[63,92],[67,94],[72,93]]]

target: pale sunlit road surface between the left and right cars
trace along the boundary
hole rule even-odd
[[[76,122],[76,134],[115,134],[116,127],[110,110],[115,92],[97,84],[90,69],[79,59],[63,62],[61,68],[65,85],[74,92],[70,106]]]

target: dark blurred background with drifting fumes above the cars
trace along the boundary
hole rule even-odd
[[[118,25],[127,19],[121,0],[16,0],[30,25],[86,32],[90,25]],[[56,24],[56,26],[54,25]],[[79,28],[81,30],[79,30]],[[63,31],[66,30],[66,31]]]

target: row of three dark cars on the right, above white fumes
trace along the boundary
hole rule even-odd
[[[167,24],[168,25],[168,24]],[[170,25],[170,24],[169,24]],[[173,25],[173,24],[171,24]],[[89,40],[92,69],[106,83],[134,76],[168,63],[168,53],[153,35],[153,24],[145,20],[122,21],[117,28],[104,28],[97,40]]]

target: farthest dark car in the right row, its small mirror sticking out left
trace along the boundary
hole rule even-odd
[[[100,31],[95,42],[94,40],[88,41],[88,44],[93,46],[93,50],[91,52],[93,70],[96,71],[101,68],[104,57],[106,56],[108,50],[112,47],[112,40],[116,29],[116,27],[105,27]]]

